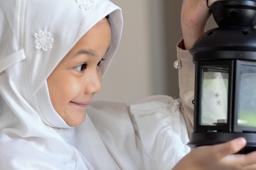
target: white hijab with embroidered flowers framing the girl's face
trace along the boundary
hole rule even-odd
[[[108,0],[0,0],[0,169],[114,170],[90,117],[71,128],[46,79],[106,15],[112,31],[104,75],[119,44],[121,9]]]

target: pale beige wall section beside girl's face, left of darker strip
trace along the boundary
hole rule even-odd
[[[124,29],[117,54],[95,99],[129,102],[152,93],[148,0],[112,0],[122,8]]]

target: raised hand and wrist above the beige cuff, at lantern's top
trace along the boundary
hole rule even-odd
[[[209,0],[208,6],[218,0]],[[185,49],[191,49],[195,40],[205,32],[205,25],[211,13],[207,0],[183,0],[181,28]]]

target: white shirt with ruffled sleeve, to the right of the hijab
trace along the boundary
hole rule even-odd
[[[88,116],[120,170],[171,170],[190,148],[179,99],[92,102]]]

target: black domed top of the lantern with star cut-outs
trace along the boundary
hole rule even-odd
[[[217,1],[210,10],[219,28],[207,31],[195,41],[189,50],[193,61],[256,61],[256,1]]]

